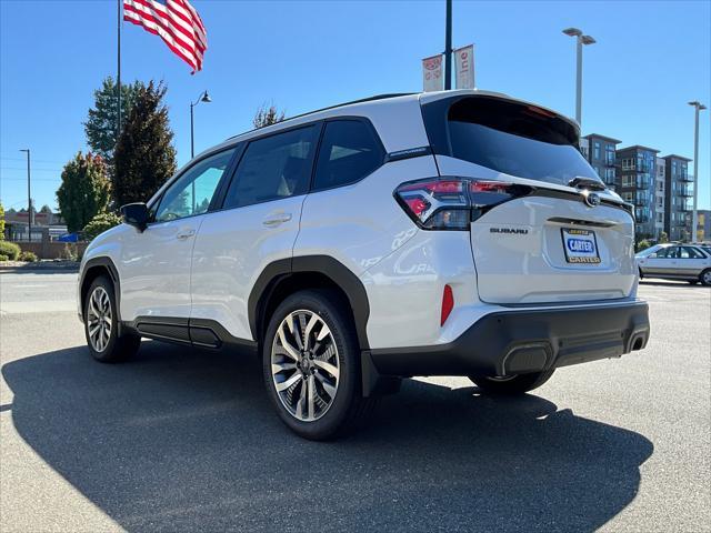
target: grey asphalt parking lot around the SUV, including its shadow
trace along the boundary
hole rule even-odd
[[[643,282],[652,338],[514,400],[408,381],[334,443],[240,354],[90,360],[76,274],[0,274],[0,530],[711,531],[711,291]]]

